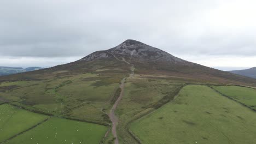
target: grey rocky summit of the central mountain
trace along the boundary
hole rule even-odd
[[[112,49],[91,53],[90,55],[80,59],[80,61],[93,61],[99,58],[113,58],[114,56],[124,57],[130,62],[154,61],[185,65],[191,64],[181,58],[172,56],[170,53],[131,39],[125,40],[123,43],[113,47]]]

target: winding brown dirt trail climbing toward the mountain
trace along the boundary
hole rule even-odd
[[[110,52],[108,52],[108,53],[110,53]],[[110,54],[115,57],[115,55],[113,53],[110,53]],[[117,57],[115,57],[115,58],[118,61],[123,61],[126,64],[131,65],[131,74],[128,77],[132,77],[134,75],[134,70],[135,70],[134,65],[129,63],[129,62],[127,62],[127,61],[125,61],[125,58],[123,58],[123,57],[122,57],[122,60],[118,59]],[[112,131],[113,136],[115,137],[115,140],[114,140],[115,144],[119,144],[118,135],[117,135],[118,117],[115,116],[115,109],[117,109],[117,105],[119,104],[120,100],[123,98],[123,95],[124,95],[124,83],[125,83],[125,80],[128,77],[125,77],[123,80],[121,80],[121,84],[120,84],[121,92],[120,92],[120,95],[119,95],[118,99],[115,101],[114,105],[112,106],[112,109],[110,109],[110,112],[109,112],[109,115],[108,115],[110,121],[112,122],[111,131]]]

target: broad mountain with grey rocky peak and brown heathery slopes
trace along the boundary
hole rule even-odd
[[[232,83],[237,85],[250,85],[249,83],[254,85],[255,83],[255,80],[248,79],[248,77],[188,62],[155,47],[130,39],[112,49],[96,51],[72,63],[57,65],[56,67],[31,73],[23,73],[8,77],[8,79],[16,79],[18,77],[19,79],[24,79],[24,75],[27,75],[26,77],[33,77],[34,74],[54,73],[54,71],[60,70],[66,71],[61,73],[61,75],[85,73],[92,72],[98,67],[109,69],[120,67],[129,70],[130,68],[124,62],[135,65],[137,74],[162,74],[193,79],[195,81]],[[67,71],[69,72],[67,73]]]

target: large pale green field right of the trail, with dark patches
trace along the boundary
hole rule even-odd
[[[142,143],[253,144],[256,113],[207,86],[190,85],[130,128]]]

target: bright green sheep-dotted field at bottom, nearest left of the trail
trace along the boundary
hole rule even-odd
[[[38,127],[7,141],[7,144],[100,143],[107,127],[98,124],[50,118]]]

